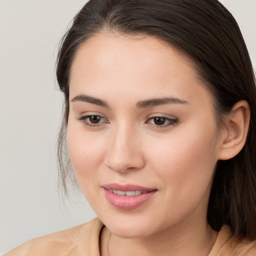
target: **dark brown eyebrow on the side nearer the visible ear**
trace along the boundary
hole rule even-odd
[[[136,104],[137,108],[146,108],[165,104],[189,104],[186,100],[173,98],[173,97],[163,97],[163,98],[152,98],[147,100],[138,101]]]

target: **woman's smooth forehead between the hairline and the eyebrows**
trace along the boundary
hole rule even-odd
[[[76,52],[70,70],[70,97],[84,92],[140,100],[141,95],[171,94],[188,101],[191,91],[198,97],[205,92],[191,62],[153,36],[96,34]]]

